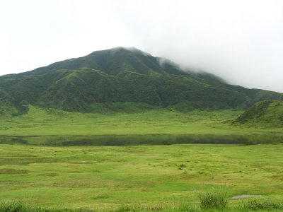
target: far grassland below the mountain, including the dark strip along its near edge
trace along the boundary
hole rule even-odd
[[[277,143],[282,129],[231,126],[239,110],[64,112],[30,105],[27,114],[0,116],[0,143],[139,145],[171,143]]]

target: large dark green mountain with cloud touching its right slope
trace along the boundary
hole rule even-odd
[[[167,59],[117,47],[0,77],[0,105],[25,112],[26,105],[91,112],[93,105],[144,102],[199,109],[246,108],[282,93],[231,86],[206,72],[183,70]]]

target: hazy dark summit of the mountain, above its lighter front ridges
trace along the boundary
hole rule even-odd
[[[42,73],[62,69],[94,69],[114,76],[125,72],[140,74],[187,74],[173,62],[168,62],[166,67],[161,66],[158,57],[153,57],[151,54],[142,52],[135,47],[115,47],[100,50],[84,57],[59,61],[49,66],[30,71],[30,73]]]

